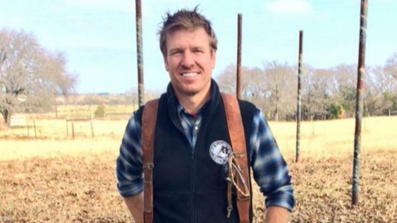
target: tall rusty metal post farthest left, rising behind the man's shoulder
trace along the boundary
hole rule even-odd
[[[136,15],[136,54],[138,65],[138,100],[139,106],[144,104],[144,55],[142,50],[142,11],[140,0],[135,0]]]

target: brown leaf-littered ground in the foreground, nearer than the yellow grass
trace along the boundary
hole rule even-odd
[[[114,153],[0,161],[0,222],[130,222],[116,189]],[[287,156],[292,222],[397,222],[397,151],[361,154],[359,205],[351,205],[352,157]],[[254,221],[264,218],[254,191]]]

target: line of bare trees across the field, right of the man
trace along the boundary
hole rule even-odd
[[[242,99],[257,104],[270,120],[295,120],[297,65],[264,62],[262,68],[241,69]],[[230,65],[217,76],[221,90],[236,92],[236,67]],[[302,66],[302,120],[354,117],[357,65],[317,69]],[[367,67],[364,77],[364,116],[397,111],[397,53],[383,66]]]

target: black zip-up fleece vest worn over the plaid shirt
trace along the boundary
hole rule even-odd
[[[201,129],[195,148],[190,147],[181,126],[175,99],[168,89],[159,100],[154,142],[153,205],[154,222],[238,222],[236,196],[233,211],[226,218],[227,181],[224,165],[210,156],[213,142],[223,140],[230,145],[222,100],[216,83],[211,85],[211,99],[204,105]],[[239,101],[241,109],[248,166],[249,138],[256,107]],[[142,108],[137,115],[141,120]],[[252,194],[251,194],[252,195]],[[252,196],[251,196],[252,198]],[[250,207],[252,220],[252,202]]]

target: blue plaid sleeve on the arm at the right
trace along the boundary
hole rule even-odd
[[[281,206],[292,211],[295,198],[288,166],[260,109],[253,117],[252,127],[251,165],[254,180],[266,197],[265,205]]]

